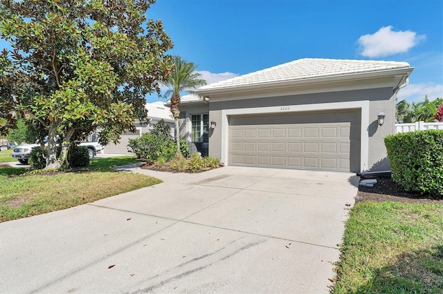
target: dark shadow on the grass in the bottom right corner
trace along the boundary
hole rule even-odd
[[[443,245],[399,255],[356,293],[442,293]]]

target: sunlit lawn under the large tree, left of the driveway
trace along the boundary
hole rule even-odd
[[[81,173],[51,175],[0,166],[0,222],[70,208],[161,182],[111,169],[134,162],[134,157],[127,156],[93,159]]]

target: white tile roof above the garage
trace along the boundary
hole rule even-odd
[[[271,84],[282,81],[300,81],[319,77],[336,77],[397,68],[410,68],[410,66],[409,63],[397,61],[305,58],[209,84],[199,88],[199,91]]]

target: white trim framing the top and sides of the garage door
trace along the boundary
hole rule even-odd
[[[360,148],[360,169],[368,169],[369,153],[369,100],[334,102],[325,104],[303,104],[303,105],[282,105],[257,108],[236,108],[221,110],[221,159],[220,161],[228,165],[228,134],[230,115],[258,115],[258,114],[278,114],[284,112],[305,112],[316,110],[344,110],[357,108],[361,110],[361,148]]]

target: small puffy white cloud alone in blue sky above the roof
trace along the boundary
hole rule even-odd
[[[404,53],[424,39],[426,35],[417,35],[410,30],[394,32],[392,26],[381,27],[374,34],[359,38],[360,54],[365,57],[384,57]]]

